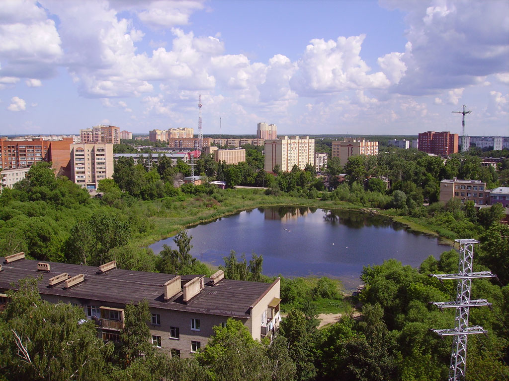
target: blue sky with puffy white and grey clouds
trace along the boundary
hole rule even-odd
[[[509,136],[506,0],[0,0],[0,135]]]

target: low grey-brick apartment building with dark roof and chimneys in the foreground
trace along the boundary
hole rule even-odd
[[[24,253],[1,258],[0,294],[16,290],[20,279],[37,278],[41,298],[71,303],[97,325],[99,337],[120,341],[126,304],[146,300],[152,344],[172,356],[190,357],[213,335],[212,327],[232,317],[253,339],[269,337],[279,326],[279,278],[272,283],[224,279],[222,271],[170,275],[122,270],[116,262],[99,267],[24,259]],[[8,301],[7,301],[8,302]]]

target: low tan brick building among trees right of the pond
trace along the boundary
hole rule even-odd
[[[450,199],[459,199],[462,203],[473,201],[478,205],[489,205],[490,192],[486,183],[480,180],[452,180],[440,181],[440,202],[446,203]]]

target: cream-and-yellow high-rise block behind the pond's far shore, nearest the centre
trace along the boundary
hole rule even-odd
[[[265,141],[265,171],[273,173],[275,165],[281,172],[290,172],[294,165],[304,169],[315,165],[315,139],[299,136],[280,137]]]

